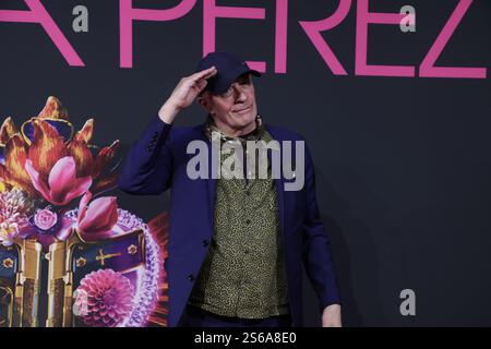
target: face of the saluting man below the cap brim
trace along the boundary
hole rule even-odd
[[[221,131],[235,135],[241,134],[240,131],[250,132],[255,127],[258,106],[251,74],[240,75],[224,94],[207,92],[203,99],[201,104]]]

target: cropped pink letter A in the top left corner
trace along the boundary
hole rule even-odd
[[[70,65],[85,67],[39,0],[24,0],[29,11],[0,10],[0,22],[38,23]]]

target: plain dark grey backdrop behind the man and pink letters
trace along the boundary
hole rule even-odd
[[[180,1],[133,1],[166,9]],[[324,37],[348,71],[336,76],[298,21],[321,20],[338,1],[289,1],[288,72],[275,74],[275,2],[217,1],[266,9],[265,21],[217,20],[217,49],[265,60],[255,81],[266,122],[302,133],[316,165],[318,200],[332,238],[345,325],[491,325],[491,84],[486,80],[355,75],[356,7]],[[134,25],[132,69],[119,68],[117,0],[44,0],[85,62],[69,67],[39,25],[0,22],[0,116],[16,123],[37,115],[49,95],[69,108],[76,129],[94,117],[95,143],[119,139],[123,151],[155,116],[203,50],[203,5],[172,22]],[[370,10],[417,10],[417,32],[371,25],[368,61],[419,65],[458,0],[371,0]],[[89,11],[89,32],[72,31],[72,9]],[[27,9],[1,0],[0,10]],[[491,62],[491,3],[475,0],[439,65]],[[197,106],[177,124],[202,122]],[[124,153],[122,153],[124,154]],[[144,219],[168,196],[115,192]],[[309,325],[319,324],[308,284]],[[399,313],[399,292],[416,292],[416,316]]]

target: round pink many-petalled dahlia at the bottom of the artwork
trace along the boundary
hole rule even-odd
[[[112,269],[86,275],[76,289],[75,305],[81,318],[94,327],[116,327],[133,310],[134,288],[130,280]]]

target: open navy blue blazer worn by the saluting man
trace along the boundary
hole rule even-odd
[[[303,141],[295,132],[265,127],[282,146],[283,141]],[[188,303],[214,232],[216,180],[192,180],[187,176],[188,160],[195,156],[187,154],[187,147],[194,140],[207,142],[208,153],[212,153],[204,124],[177,128],[155,117],[129,151],[118,180],[123,192],[135,195],[158,195],[171,188],[165,267],[169,284],[168,325],[172,327]],[[340,303],[330,240],[315,200],[314,167],[307,146],[304,163],[303,189],[285,191],[284,183],[288,179],[284,176],[275,179],[292,326],[302,325],[302,263],[319,297],[320,309]]]

